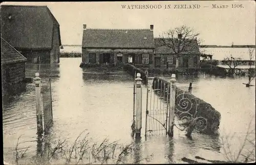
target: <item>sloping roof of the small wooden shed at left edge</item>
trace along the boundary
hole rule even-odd
[[[15,50],[6,40],[1,38],[1,64],[23,61],[27,61],[27,58]]]

